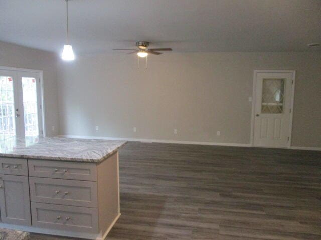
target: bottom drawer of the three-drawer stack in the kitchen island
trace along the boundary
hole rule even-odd
[[[32,224],[47,229],[98,232],[98,209],[31,203]]]

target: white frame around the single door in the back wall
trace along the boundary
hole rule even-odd
[[[291,148],[292,140],[292,120],[293,120],[293,106],[294,106],[294,88],[295,88],[295,71],[293,70],[254,70],[253,76],[253,93],[252,93],[252,117],[251,117],[251,140],[250,145],[254,146],[254,116],[255,116],[255,101],[256,101],[256,76],[258,73],[292,73],[292,89],[291,89],[291,103],[290,103],[290,122],[289,122],[289,140],[287,148]]]

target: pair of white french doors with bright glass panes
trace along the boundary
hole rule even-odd
[[[0,140],[42,136],[40,73],[0,69]]]

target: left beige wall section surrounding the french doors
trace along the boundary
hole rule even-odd
[[[54,53],[0,42],[0,66],[43,70],[47,136],[59,131],[57,56]],[[52,131],[52,126],[55,130]]]

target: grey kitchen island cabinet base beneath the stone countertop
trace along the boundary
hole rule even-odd
[[[0,157],[0,228],[105,239],[120,216],[118,168],[118,152],[99,164]]]

